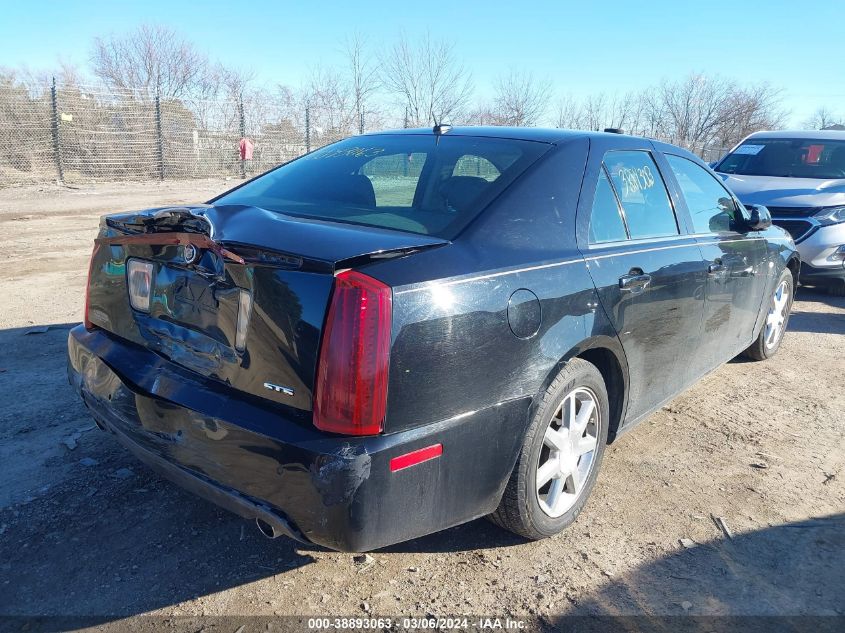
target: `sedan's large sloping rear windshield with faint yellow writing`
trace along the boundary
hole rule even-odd
[[[471,136],[359,136],[283,165],[214,203],[451,239],[549,147]]]

